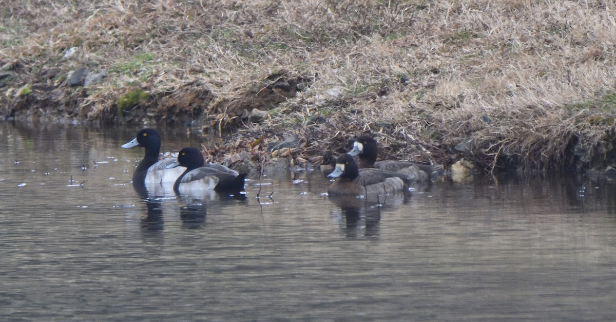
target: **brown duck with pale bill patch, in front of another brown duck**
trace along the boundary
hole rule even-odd
[[[355,159],[346,153],[336,158],[336,168],[328,177],[339,178],[327,189],[330,196],[392,194],[407,189],[411,181],[402,173],[376,168],[360,169]]]

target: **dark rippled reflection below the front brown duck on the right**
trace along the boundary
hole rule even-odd
[[[403,204],[404,194],[393,194],[375,200],[360,199],[355,196],[328,196],[331,202],[340,207],[341,229],[347,237],[378,236],[381,212],[394,209]]]

